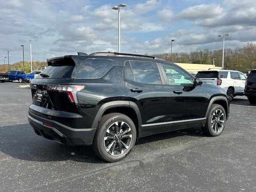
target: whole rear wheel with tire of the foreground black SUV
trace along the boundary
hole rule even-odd
[[[118,126],[116,126],[116,122]],[[118,127],[117,131],[116,127]],[[126,137],[122,138],[122,136]],[[102,160],[116,162],[124,159],[131,152],[135,142],[134,122],[124,114],[110,113],[100,119],[92,148]]]

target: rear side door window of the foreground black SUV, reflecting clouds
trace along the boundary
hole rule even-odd
[[[162,84],[160,74],[156,63],[154,62],[140,62],[140,61],[129,61],[132,69],[133,78],[136,82],[146,84]],[[128,65],[128,62],[126,62]],[[125,73],[125,77],[130,77],[128,72]]]

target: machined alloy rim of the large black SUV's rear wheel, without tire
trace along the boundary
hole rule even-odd
[[[114,122],[106,130],[104,147],[110,155],[122,155],[130,147],[131,142],[131,128],[126,122]]]

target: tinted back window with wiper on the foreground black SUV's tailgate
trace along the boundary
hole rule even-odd
[[[85,58],[57,58],[53,60],[48,60],[48,67],[41,72],[41,74],[46,74],[48,78],[71,78],[72,72],[76,65],[79,65],[80,62],[84,62]],[[38,75],[36,78],[43,78]]]

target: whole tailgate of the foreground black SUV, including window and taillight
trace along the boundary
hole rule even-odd
[[[86,56],[64,56],[47,60],[48,67],[30,83],[32,103],[51,110],[76,111],[76,92],[84,86],[74,86],[72,81],[85,60]]]

